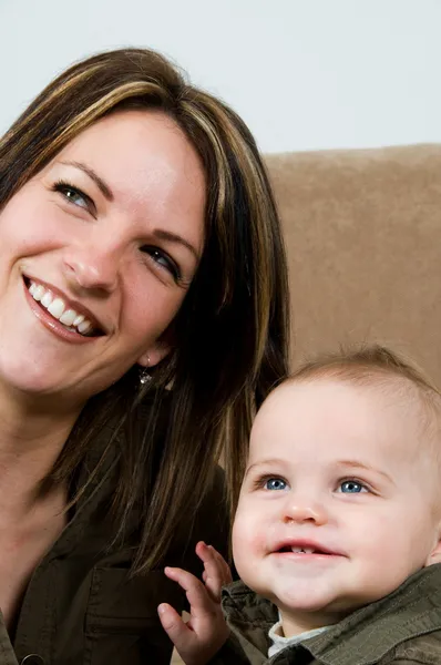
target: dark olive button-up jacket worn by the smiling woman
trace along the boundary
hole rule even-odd
[[[34,571],[23,596],[13,635],[0,614],[0,665],[165,665],[172,644],[163,631],[157,605],[186,607],[185,595],[163,566],[131,577],[141,518],[133,514],[125,546],[110,545],[115,524],[109,510],[115,477],[102,471],[74,514]],[[164,565],[201,574],[194,552],[198,540],[227,550],[228,523],[224,475],[213,487],[196,519],[183,515],[187,540],[174,543]]]

